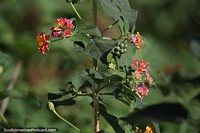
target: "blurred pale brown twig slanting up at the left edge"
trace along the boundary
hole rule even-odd
[[[22,67],[22,62],[21,61],[18,61],[16,66],[15,66],[15,69],[14,69],[14,72],[13,72],[13,75],[12,75],[12,79],[8,85],[8,88],[7,88],[7,91],[10,91],[14,88],[15,86],[15,83],[17,81],[17,78],[19,76],[19,72],[21,70],[21,67]],[[8,102],[10,100],[10,97],[6,97],[3,101],[2,101],[2,104],[1,104],[1,113],[4,114],[7,107],[8,107]]]

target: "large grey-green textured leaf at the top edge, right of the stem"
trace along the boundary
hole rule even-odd
[[[137,11],[131,9],[128,0],[100,0],[104,13],[112,17],[114,21],[119,20],[119,26],[123,34],[133,33],[137,19]]]

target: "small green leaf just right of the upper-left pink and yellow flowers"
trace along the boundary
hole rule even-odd
[[[92,27],[92,26],[81,29],[78,32],[89,36],[101,36],[101,32],[99,31],[99,29],[97,27]]]

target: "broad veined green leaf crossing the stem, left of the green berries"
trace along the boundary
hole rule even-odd
[[[81,47],[79,44],[74,45],[74,49],[76,51],[85,53],[97,60],[102,61],[102,63],[107,64],[107,55],[110,50],[117,45],[116,41],[108,40],[108,39],[90,39],[89,44],[87,44],[86,48]]]

